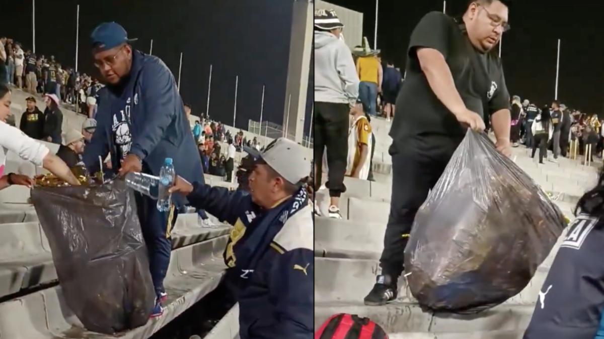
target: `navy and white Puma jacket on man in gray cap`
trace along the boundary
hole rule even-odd
[[[274,230],[275,236],[259,261],[253,267],[243,267],[245,259],[235,256],[237,246],[252,242],[255,227],[270,211],[263,211],[252,202],[251,195],[241,191],[201,183],[193,183],[193,187],[187,197],[191,206],[234,226],[224,256],[230,267],[227,279],[237,288],[240,337],[313,338],[312,209],[304,206],[288,218]]]

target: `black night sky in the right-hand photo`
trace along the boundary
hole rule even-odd
[[[374,0],[327,0],[364,13],[364,35],[373,47]],[[519,0],[510,10],[512,30],[503,36],[503,60],[510,95],[551,103],[556,82],[557,39],[562,39],[558,98],[567,106],[604,116],[604,2]],[[447,1],[447,13],[463,14],[466,0]],[[379,0],[377,48],[405,68],[411,31],[442,0]],[[344,34],[345,28],[344,28]]]

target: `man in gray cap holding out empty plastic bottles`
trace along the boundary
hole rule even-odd
[[[170,192],[187,196],[233,225],[224,253],[226,282],[239,302],[239,335],[307,339],[313,334],[313,220],[304,187],[310,159],[279,138],[254,157],[249,194],[176,178]]]

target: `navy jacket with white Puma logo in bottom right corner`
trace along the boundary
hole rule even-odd
[[[568,226],[524,339],[603,338],[604,224],[579,215]]]

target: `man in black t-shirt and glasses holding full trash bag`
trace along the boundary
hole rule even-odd
[[[393,189],[382,275],[365,305],[396,299],[406,236],[467,127],[483,131],[484,119],[490,116],[496,147],[511,153],[510,95],[501,60],[492,51],[509,29],[504,2],[472,1],[459,21],[428,13],[411,34],[405,86],[390,130]]]

